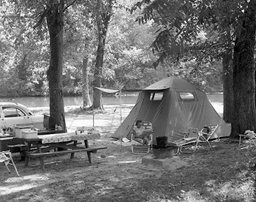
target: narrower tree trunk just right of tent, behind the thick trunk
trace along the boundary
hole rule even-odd
[[[232,51],[227,50],[222,57],[223,64],[223,120],[232,122],[233,113],[233,60]]]

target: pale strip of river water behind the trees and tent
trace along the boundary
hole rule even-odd
[[[209,101],[218,113],[223,113],[223,94],[207,94]],[[0,101],[8,99],[0,99]],[[122,96],[122,105],[134,105],[137,96]],[[28,108],[47,107],[49,106],[49,97],[16,97],[15,101]],[[64,97],[65,106],[81,106],[83,97]],[[118,97],[103,97],[103,105],[120,105]]]

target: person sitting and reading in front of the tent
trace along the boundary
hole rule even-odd
[[[150,135],[153,132],[153,129],[152,128],[144,129],[141,126],[142,126],[142,120],[136,120],[135,127],[133,128],[134,140],[138,141],[142,145],[148,145],[152,139],[150,138]]]

